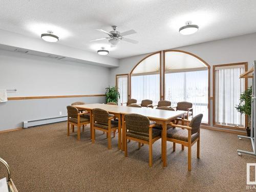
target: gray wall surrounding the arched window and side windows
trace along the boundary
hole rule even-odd
[[[212,66],[225,63],[248,62],[249,67],[251,67],[253,60],[256,60],[256,33],[175,49],[193,53],[204,59],[211,66],[210,96],[212,96]],[[120,59],[119,67],[111,69],[110,84],[115,84],[116,74],[130,73],[137,62],[146,55],[148,54]],[[210,102],[210,109],[210,124],[212,125],[212,101]]]

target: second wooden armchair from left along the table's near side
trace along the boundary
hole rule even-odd
[[[108,138],[108,148],[111,150],[111,132],[118,129],[118,121],[112,121],[115,116],[102,109],[93,109],[92,119],[92,143],[95,143],[95,130],[106,132]]]

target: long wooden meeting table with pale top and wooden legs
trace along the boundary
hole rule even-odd
[[[110,114],[115,115],[118,118],[118,149],[124,150],[124,115],[125,114],[139,114],[148,117],[148,119],[155,121],[157,124],[162,125],[162,161],[163,167],[167,166],[166,161],[166,132],[167,124],[179,117],[183,117],[186,114],[186,111],[168,111],[168,110],[157,110],[152,108],[134,108],[131,106],[119,106],[119,105],[110,105],[110,104],[101,104],[101,103],[92,103],[92,104],[82,104],[75,105],[79,110],[86,110],[90,112],[90,128],[91,128],[91,138],[92,138],[92,110],[99,108],[105,111],[108,111]],[[121,121],[120,121],[121,120]],[[121,133],[121,134],[120,134]]]

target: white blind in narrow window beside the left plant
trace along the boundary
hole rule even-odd
[[[127,102],[127,94],[128,94],[128,77],[125,76],[117,76],[117,88],[120,93],[120,99],[118,99],[118,105],[121,103]]]

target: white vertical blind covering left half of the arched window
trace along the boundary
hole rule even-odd
[[[131,98],[141,103],[143,99],[160,100],[160,75],[138,75],[131,77]]]

